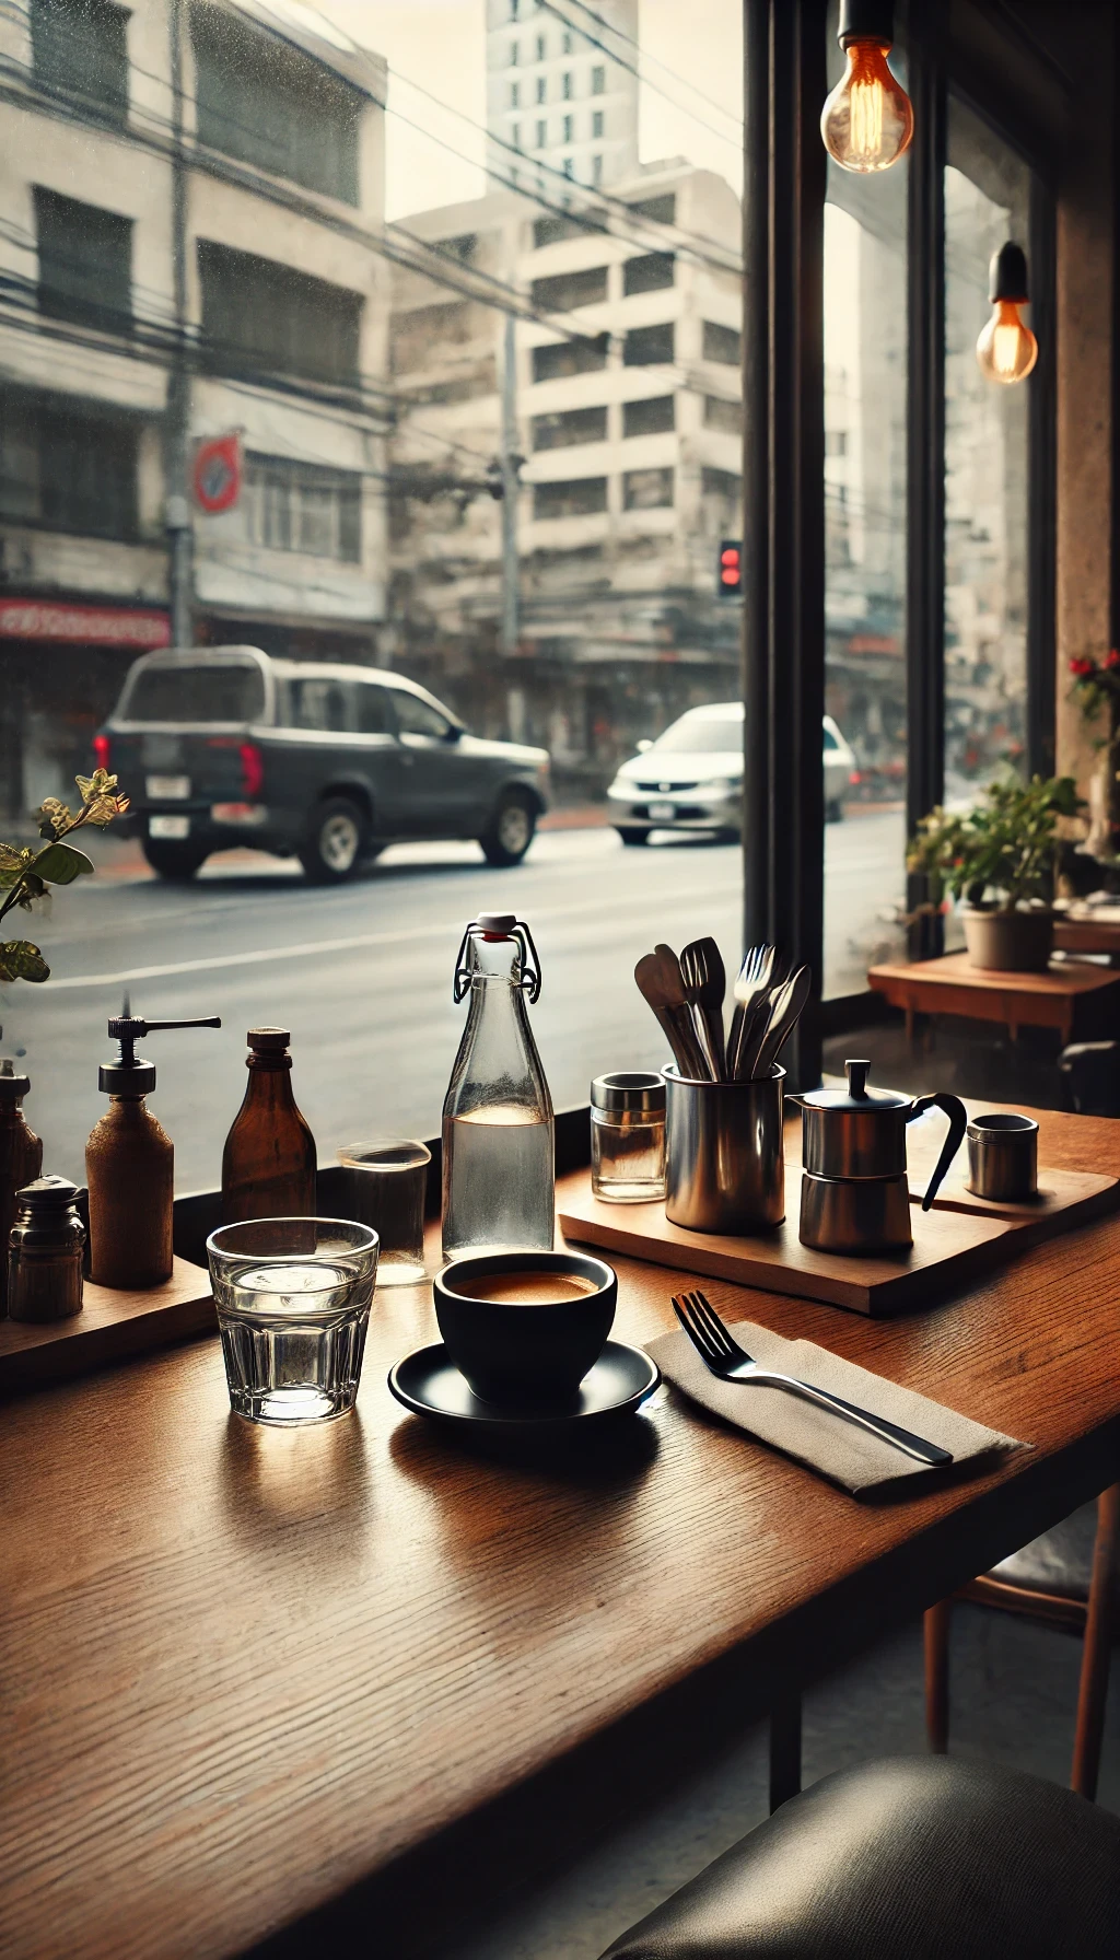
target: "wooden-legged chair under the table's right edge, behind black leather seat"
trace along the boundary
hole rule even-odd
[[[1069,1782],[1079,1795],[1095,1797],[1108,1664],[1120,1629],[1120,1484],[963,1586],[957,1597],[1085,1633]],[[924,1627],[926,1733],[936,1754],[949,1746],[951,1607],[951,1599],[930,1607]]]

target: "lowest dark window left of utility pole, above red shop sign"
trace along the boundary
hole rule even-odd
[[[139,433],[139,417],[75,396],[0,396],[0,510],[76,537],[135,537]]]

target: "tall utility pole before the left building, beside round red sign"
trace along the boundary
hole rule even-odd
[[[186,496],[190,447],[190,365],[186,345],[186,149],[182,96],[182,0],[171,0],[171,280],[175,302],[175,349],[167,376],[165,523],[171,586],[171,645],[194,643],[192,557],[194,531]]]

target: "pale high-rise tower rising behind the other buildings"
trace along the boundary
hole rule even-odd
[[[541,165],[577,184],[637,169],[637,0],[563,12],[486,0],[486,169],[549,196],[563,186]]]

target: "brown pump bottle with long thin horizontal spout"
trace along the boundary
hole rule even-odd
[[[86,1143],[90,1280],[122,1292],[163,1286],[173,1266],[175,1145],[145,1105],[155,1064],[135,1054],[135,1043],[161,1027],[222,1027],[222,1021],[218,1015],[139,1021],[127,1013],[110,1021],[120,1054],[98,1068],[98,1088],[110,1105]]]

